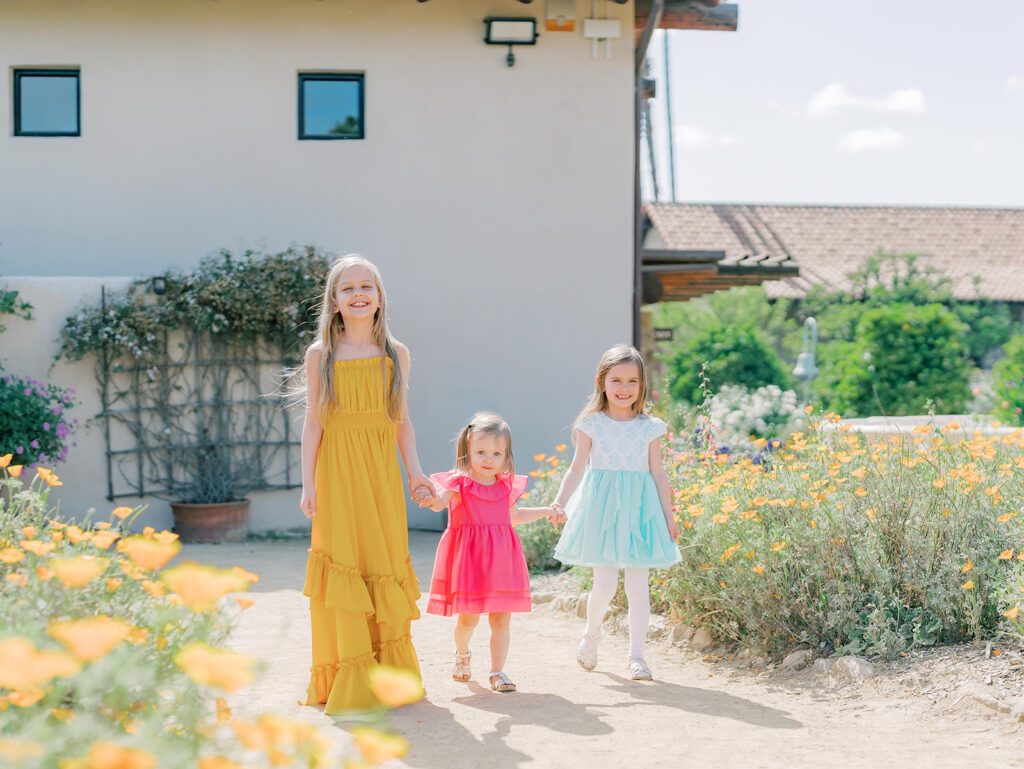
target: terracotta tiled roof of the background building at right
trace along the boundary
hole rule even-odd
[[[920,254],[953,279],[961,299],[1024,301],[1022,208],[651,203],[645,211],[667,249],[724,250],[722,264],[794,259],[800,276],[765,283],[770,297],[803,296],[813,284],[846,288],[847,273],[881,248]]]

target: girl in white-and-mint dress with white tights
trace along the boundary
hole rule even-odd
[[[679,527],[672,512],[669,479],[662,464],[665,423],[643,414],[647,381],[643,357],[620,345],[604,353],[594,394],[573,425],[575,454],[551,507],[568,521],[555,557],[593,566],[587,628],[577,660],[597,666],[601,622],[625,569],[630,614],[627,667],[636,680],[649,680],[643,656],[650,620],[648,571],[678,563]]]

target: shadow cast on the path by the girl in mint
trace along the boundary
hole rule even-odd
[[[803,724],[785,711],[769,708],[751,699],[727,694],[715,689],[700,689],[695,686],[680,686],[667,681],[632,681],[613,673],[600,673],[610,685],[604,688],[622,692],[633,701],[622,701],[604,708],[632,708],[637,704],[653,704],[672,708],[685,713],[701,716],[718,716],[733,721],[742,721],[768,729],[800,729]]]

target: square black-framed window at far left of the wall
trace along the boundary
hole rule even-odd
[[[14,70],[15,136],[81,136],[78,70]]]

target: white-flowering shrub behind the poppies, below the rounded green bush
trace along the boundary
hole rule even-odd
[[[797,393],[775,385],[726,385],[711,399],[709,418],[720,450],[755,455],[765,444],[758,438],[785,438],[804,420]]]

